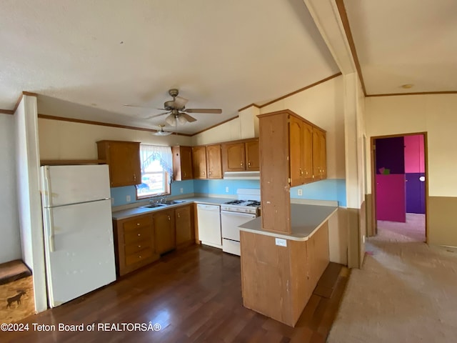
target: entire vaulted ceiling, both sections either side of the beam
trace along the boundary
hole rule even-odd
[[[368,95],[457,91],[457,1],[343,4]],[[0,23],[3,110],[30,91],[40,114],[157,129],[177,88],[222,109],[166,127],[194,134],[339,72],[303,0],[6,0]]]

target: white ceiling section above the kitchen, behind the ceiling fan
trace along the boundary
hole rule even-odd
[[[303,0],[8,0],[0,23],[0,109],[30,91],[40,114],[157,128],[178,88],[223,110],[193,134],[339,71]]]

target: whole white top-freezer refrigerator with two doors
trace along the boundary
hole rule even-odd
[[[50,307],[116,279],[109,198],[106,164],[41,167]]]

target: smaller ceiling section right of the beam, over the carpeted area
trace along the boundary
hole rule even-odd
[[[367,94],[457,91],[456,0],[344,5]]]

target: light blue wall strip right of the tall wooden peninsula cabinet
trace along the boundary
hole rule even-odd
[[[298,189],[303,195],[298,196]],[[291,188],[291,198],[311,200],[336,200],[338,206],[346,207],[346,180],[326,179]]]

